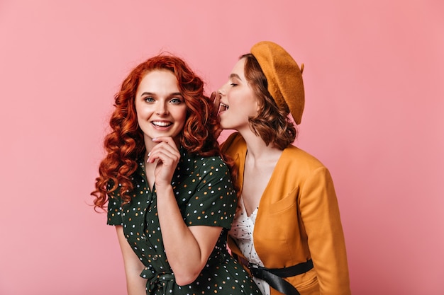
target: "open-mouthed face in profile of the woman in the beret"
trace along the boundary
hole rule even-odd
[[[258,105],[255,93],[245,79],[245,59],[235,64],[227,83],[220,89],[221,106],[219,117],[223,129],[250,129],[249,117],[257,115]]]

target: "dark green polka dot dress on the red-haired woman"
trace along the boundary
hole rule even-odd
[[[162,242],[155,187],[150,191],[143,163],[133,175],[135,189],[130,204],[122,206],[119,195],[109,198],[108,224],[122,225],[131,248],[145,270],[147,294],[260,294],[255,282],[226,250],[228,229],[235,214],[236,197],[228,168],[220,157],[182,157],[172,187],[188,226],[221,226],[223,230],[204,270],[192,283],[179,286],[168,264]],[[187,253],[184,253],[187,255]]]

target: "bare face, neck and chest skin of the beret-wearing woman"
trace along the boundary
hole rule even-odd
[[[244,183],[241,199],[245,205],[247,214],[259,206],[260,198],[270,180],[274,167],[279,160],[282,151],[272,144],[265,144],[252,129],[248,118],[257,115],[257,97],[245,79],[245,59],[240,59],[228,81],[219,88],[218,93],[222,105],[219,108],[219,118],[223,129],[235,129],[247,143],[247,156],[245,158]],[[227,108],[228,107],[228,108]]]

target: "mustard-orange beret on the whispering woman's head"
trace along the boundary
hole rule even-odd
[[[268,82],[268,91],[277,105],[287,105],[294,122],[301,123],[304,112],[304,82],[302,71],[292,56],[274,42],[262,41],[251,47],[251,54],[257,59]]]

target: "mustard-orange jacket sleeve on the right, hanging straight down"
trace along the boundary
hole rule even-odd
[[[338,200],[333,180],[325,166],[316,168],[306,178],[299,202],[320,294],[350,294]]]

